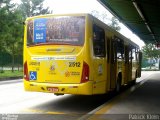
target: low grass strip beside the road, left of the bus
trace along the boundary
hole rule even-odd
[[[12,72],[11,70],[5,70],[3,72],[0,72],[0,78],[9,78],[9,77],[20,77],[23,76],[23,71],[15,70]]]

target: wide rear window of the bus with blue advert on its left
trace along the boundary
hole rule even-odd
[[[27,22],[27,45],[83,45],[85,17],[36,18]]]

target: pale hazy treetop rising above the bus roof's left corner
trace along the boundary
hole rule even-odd
[[[20,9],[24,19],[26,17],[51,13],[48,7],[43,8],[44,0],[21,0],[21,2]]]

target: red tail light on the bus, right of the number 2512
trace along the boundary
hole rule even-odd
[[[85,83],[87,81],[89,81],[89,65],[86,62],[83,62],[81,83]]]

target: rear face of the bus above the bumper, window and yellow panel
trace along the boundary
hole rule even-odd
[[[27,22],[27,65],[30,81],[81,83],[89,79],[83,61],[85,17],[36,18]]]

